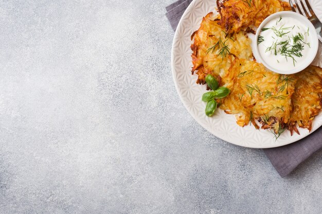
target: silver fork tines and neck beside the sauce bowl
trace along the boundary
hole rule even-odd
[[[305,5],[303,4],[303,1],[302,0],[289,0],[289,3],[290,3],[290,5],[292,7],[292,10],[294,12],[297,12],[297,13],[299,13],[301,15],[306,15],[307,16],[307,18],[310,20],[310,22],[314,25],[315,30],[317,32],[317,37],[318,37],[319,41],[322,43],[322,23],[316,17],[316,15],[315,15],[314,11],[312,10],[308,0],[305,0],[305,4],[306,4],[307,8],[309,9],[311,15],[308,13]],[[296,8],[294,7],[293,2],[295,3]],[[298,2],[301,4],[302,8],[299,7]]]

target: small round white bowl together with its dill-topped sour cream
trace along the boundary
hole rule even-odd
[[[257,62],[267,69],[291,74],[308,67],[318,49],[315,27],[303,15],[281,11],[259,25],[253,42]]]

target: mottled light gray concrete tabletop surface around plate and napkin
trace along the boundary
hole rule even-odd
[[[282,179],[185,110],[172,2],[0,2],[0,213],[321,213],[322,151]]]

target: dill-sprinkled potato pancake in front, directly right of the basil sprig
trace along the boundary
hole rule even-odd
[[[236,59],[222,76],[222,83],[231,92],[222,99],[220,108],[226,113],[237,114],[239,126],[251,121],[258,128],[255,119],[259,119],[262,128],[278,131],[282,124],[288,123],[294,75],[280,75],[267,70],[261,63]]]

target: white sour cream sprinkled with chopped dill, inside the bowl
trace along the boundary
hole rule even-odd
[[[257,38],[259,54],[273,68],[289,71],[310,57],[314,44],[310,33],[309,27],[296,18],[277,16],[261,28]]]

